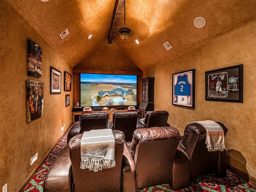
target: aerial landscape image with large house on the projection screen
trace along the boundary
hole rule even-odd
[[[137,76],[80,74],[81,106],[136,106]]]

